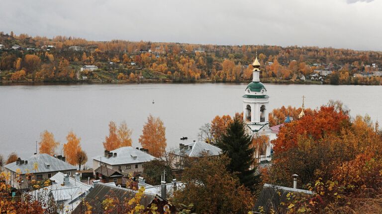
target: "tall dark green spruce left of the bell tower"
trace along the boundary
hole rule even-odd
[[[231,172],[237,172],[240,182],[253,190],[254,184],[258,183],[258,177],[255,176],[255,168],[250,169],[255,153],[251,143],[252,137],[246,133],[244,123],[235,117],[217,146],[231,159],[227,168]]]

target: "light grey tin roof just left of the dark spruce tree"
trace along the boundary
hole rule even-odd
[[[189,157],[199,157],[203,153],[207,153],[210,156],[217,156],[222,153],[221,149],[218,147],[215,147],[211,144],[207,144],[202,141],[198,142],[192,142],[189,144],[185,144],[182,151],[180,148],[176,148],[173,150],[170,150],[169,153],[173,153],[175,155],[187,155]]]

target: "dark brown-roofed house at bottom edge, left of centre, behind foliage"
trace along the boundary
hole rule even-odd
[[[85,197],[84,203],[77,206],[72,214],[84,214],[84,211],[87,209],[84,204],[87,203],[89,203],[89,205],[92,207],[92,213],[98,213],[98,211],[102,211],[102,202],[105,199],[117,198],[123,204],[126,200],[129,201],[130,199],[134,198],[136,193],[137,191],[135,190],[122,187],[114,187],[103,183],[96,183],[93,190]],[[150,208],[152,204],[157,206],[158,209],[156,211],[159,214],[164,214],[165,210],[167,212],[171,211],[171,213],[175,213],[175,208],[159,195],[144,193],[140,200],[140,205],[144,206],[146,211],[148,211],[147,208]],[[114,210],[110,214],[119,213],[118,211]]]

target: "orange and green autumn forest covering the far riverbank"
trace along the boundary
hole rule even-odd
[[[382,53],[318,47],[87,41],[0,32],[0,81],[248,82],[256,52],[265,83],[380,85]],[[95,65],[96,70],[81,68]],[[248,66],[249,65],[249,66]],[[312,74],[329,70],[320,78]],[[305,80],[306,79],[306,80]]]

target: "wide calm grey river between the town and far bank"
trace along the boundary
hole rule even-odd
[[[316,108],[329,100],[341,100],[352,116],[368,113],[382,119],[381,86],[272,85],[266,84],[269,109],[281,106]],[[110,120],[125,120],[133,130],[133,146],[151,113],[166,126],[167,148],[197,139],[200,126],[215,115],[242,110],[246,84],[139,84],[0,86],[0,154],[16,152],[28,158],[45,129],[61,144],[73,130],[91,157],[102,154]],[[155,104],[152,104],[152,101]],[[185,143],[185,142],[182,142]],[[62,146],[57,151],[61,154]]]

